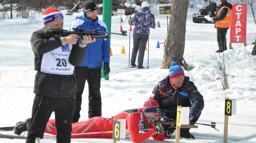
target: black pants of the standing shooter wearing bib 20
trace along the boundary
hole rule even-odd
[[[36,94],[26,143],[35,143],[36,138],[43,138],[52,112],[55,112],[57,143],[70,143],[74,109],[74,97],[55,98]]]

